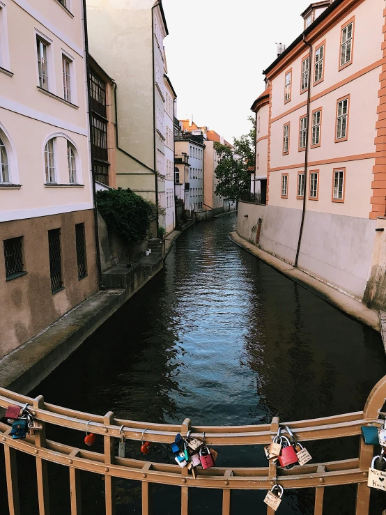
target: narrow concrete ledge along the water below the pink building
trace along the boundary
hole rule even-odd
[[[315,295],[318,295],[318,297],[322,298],[329,304],[337,307],[337,309],[340,309],[342,312],[345,312],[349,316],[356,318],[357,321],[369,325],[371,328],[380,332],[378,310],[369,309],[364,304],[362,304],[362,302],[358,302],[345,293],[341,293],[337,289],[334,289],[331,286],[328,286],[327,284],[319,281],[318,279],[311,277],[311,275],[302,272],[298,268],[293,268],[292,265],[286,263],[285,261],[281,261],[281,259],[268,254],[268,252],[265,252],[262,249],[259,249],[256,247],[256,245],[253,245],[252,243],[249,243],[249,241],[242,238],[237,233],[237,231],[230,233],[229,238],[231,238],[233,243],[239,245],[239,247],[242,247],[243,249],[247,250],[247,252],[250,252],[254,256],[261,259],[261,261],[264,261],[268,265],[276,268],[282,274],[286,275],[293,281],[298,282],[298,284],[308,289],[309,291],[312,291],[315,293]]]

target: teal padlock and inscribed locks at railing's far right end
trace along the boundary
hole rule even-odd
[[[362,438],[366,445],[380,445],[380,454],[373,457],[369,469],[367,486],[373,489],[386,491],[386,419],[383,426],[362,426]]]

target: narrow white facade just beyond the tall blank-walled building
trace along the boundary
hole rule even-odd
[[[167,233],[173,231],[176,226],[176,206],[174,200],[174,112],[176,102],[176,92],[170,82],[169,77],[164,75],[164,118],[165,118],[165,142],[164,142],[164,158],[166,174],[164,177],[164,219],[161,225]]]

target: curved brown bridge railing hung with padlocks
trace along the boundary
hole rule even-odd
[[[194,487],[222,489],[222,514],[231,513],[231,491],[242,489],[270,490],[278,482],[284,489],[316,489],[314,514],[323,513],[323,495],[325,487],[357,484],[355,515],[369,514],[370,489],[367,476],[373,446],[364,445],[360,439],[359,455],[355,459],[312,463],[295,466],[291,470],[277,468],[275,463],[263,468],[210,468],[197,470],[194,479],[187,468],[178,465],[141,461],[130,458],[118,458],[114,455],[114,443],[121,440],[121,433],[127,440],[141,441],[144,429],[146,440],[155,443],[173,443],[176,433],[201,437],[205,431],[208,445],[266,445],[272,442],[279,426],[288,426],[300,442],[310,440],[328,440],[360,435],[361,426],[366,424],[382,424],[384,413],[380,413],[386,400],[386,376],[380,380],[369,395],[362,412],[348,413],[313,420],[281,423],[277,417],[271,424],[258,426],[192,426],[189,419],[181,425],[152,424],[150,422],[133,422],[121,420],[109,412],[105,416],[91,415],[67,408],[45,403],[43,397],[31,399],[0,388],[0,410],[13,404],[21,408],[29,403],[29,412],[35,420],[43,424],[43,429],[36,431],[35,436],[27,436],[23,440],[13,440],[11,427],[0,423],[0,443],[4,446],[6,461],[6,484],[10,515],[20,515],[19,489],[17,484],[16,452],[35,456],[39,515],[49,515],[49,492],[47,477],[47,461],[68,467],[70,475],[71,515],[81,513],[81,492],[79,474],[81,470],[105,476],[105,511],[107,515],[115,513],[114,479],[136,479],[142,484],[142,515],[150,512],[150,489],[152,483],[180,486],[181,514],[188,513],[189,489]],[[0,413],[2,416],[3,413]],[[91,424],[90,424],[91,422]],[[91,452],[47,440],[45,426],[54,424],[77,431],[91,431],[103,436],[104,453]],[[88,426],[87,426],[88,424]],[[123,426],[123,429],[122,427]],[[265,505],[263,505],[265,506]],[[262,513],[261,511],[258,513]],[[275,512],[270,507],[267,514]]]

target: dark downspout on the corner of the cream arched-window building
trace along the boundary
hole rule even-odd
[[[99,249],[99,232],[98,232],[98,206],[96,199],[96,186],[94,176],[94,151],[92,141],[92,127],[93,117],[91,115],[91,87],[90,87],[90,61],[88,59],[88,33],[87,33],[87,14],[86,14],[86,0],[83,0],[83,24],[84,24],[84,52],[86,57],[86,84],[87,84],[87,102],[88,102],[88,134],[90,144],[90,158],[91,158],[91,180],[93,181],[93,212],[94,212],[94,233],[95,233],[95,257],[98,268],[98,284],[99,289],[102,288],[102,266],[100,264],[100,249]]]

